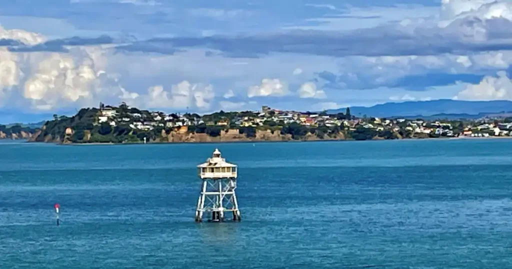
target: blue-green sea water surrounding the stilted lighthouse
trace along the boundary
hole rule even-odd
[[[242,222],[194,222],[215,148]],[[0,268],[512,268],[511,163],[512,139],[1,142]]]

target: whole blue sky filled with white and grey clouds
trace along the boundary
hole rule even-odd
[[[512,100],[509,29],[512,0],[5,1],[0,122]]]

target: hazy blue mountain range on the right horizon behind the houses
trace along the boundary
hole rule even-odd
[[[328,113],[345,113],[346,108],[328,110]],[[351,107],[352,115],[362,117],[404,117],[404,118],[481,118],[484,116],[512,115],[512,101],[458,101],[432,100],[389,102],[373,107]]]

